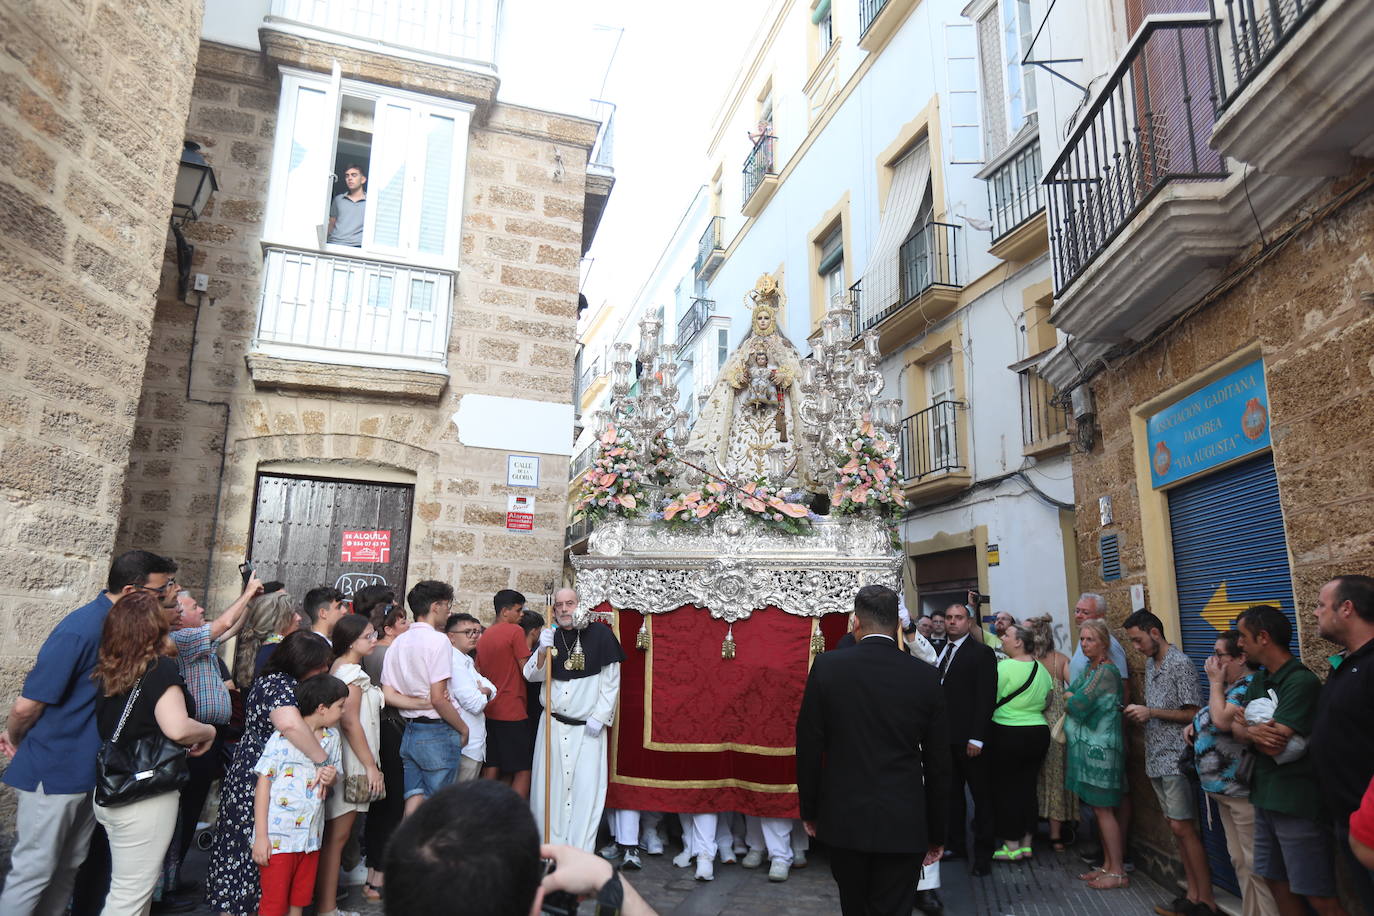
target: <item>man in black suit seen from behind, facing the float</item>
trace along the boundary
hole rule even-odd
[[[907,916],[943,851],[949,722],[936,670],[897,648],[897,593],[866,585],[855,615],[857,645],[816,659],[797,714],[801,820],[845,916]]]

